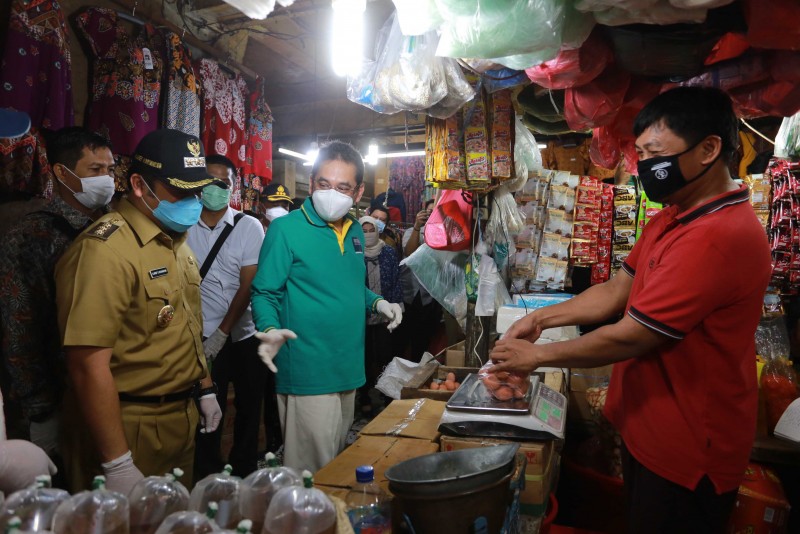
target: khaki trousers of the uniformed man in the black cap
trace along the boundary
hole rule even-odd
[[[180,481],[191,487],[194,467],[194,435],[199,415],[194,399],[163,404],[121,402],[122,427],[133,463],[144,476],[163,476],[183,469]],[[64,398],[62,450],[68,489],[91,489],[92,479],[103,474],[100,455],[77,405],[74,393]]]

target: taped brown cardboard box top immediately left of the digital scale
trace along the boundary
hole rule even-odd
[[[432,399],[392,401],[361,429],[362,436],[395,436],[426,441],[439,440],[439,421],[445,402]]]

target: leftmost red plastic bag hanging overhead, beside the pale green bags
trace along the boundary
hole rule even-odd
[[[547,89],[567,89],[597,78],[614,56],[599,33],[578,49],[562,48],[558,55],[525,71],[530,80]]]

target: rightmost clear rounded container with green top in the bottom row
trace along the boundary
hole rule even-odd
[[[262,534],[333,534],[336,508],[325,493],[314,487],[311,473],[303,471],[303,487],[278,491],[267,509]]]

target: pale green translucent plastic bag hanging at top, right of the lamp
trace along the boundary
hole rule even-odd
[[[561,46],[560,0],[436,0],[436,5],[445,20],[439,56],[496,58],[541,50],[555,55]]]

